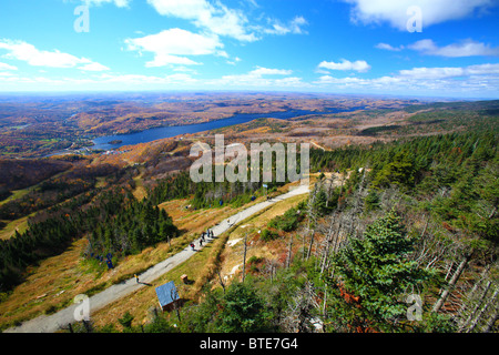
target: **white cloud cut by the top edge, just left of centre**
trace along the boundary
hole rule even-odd
[[[228,9],[220,1],[206,0],[147,0],[160,14],[192,21],[196,27],[217,36],[252,42],[257,38],[247,33],[247,19],[242,11]]]

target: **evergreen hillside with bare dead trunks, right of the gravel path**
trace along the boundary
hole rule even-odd
[[[244,281],[213,280],[181,308],[180,326],[174,313],[144,328],[128,314],[105,332],[496,332],[497,140],[314,150],[310,196],[256,236],[289,240],[289,257],[252,257]],[[334,184],[337,171],[345,179]],[[175,191],[167,184],[156,202]]]

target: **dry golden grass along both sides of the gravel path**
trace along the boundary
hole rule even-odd
[[[279,189],[281,193],[287,192],[289,185]],[[258,215],[241,222],[233,226],[231,231],[221,235],[213,243],[207,244],[200,253],[190,258],[189,263],[179,265],[159,280],[154,281],[153,286],[144,287],[132,295],[120,300],[110,306],[99,311],[93,315],[93,320],[99,325],[115,323],[124,312],[130,311],[140,322],[145,321],[147,310],[156,305],[156,295],[154,286],[161,285],[167,281],[174,281],[180,285],[180,294],[187,300],[197,300],[202,287],[213,281],[215,272],[222,266],[221,262],[225,260],[223,270],[232,261],[237,260],[237,254],[230,255],[225,250],[225,244],[231,237],[241,237],[244,233],[242,225],[252,223],[255,227],[262,227],[272,217],[283,214],[292,205],[296,205],[305,199],[305,195],[292,197],[285,202],[278,202],[261,212]],[[116,267],[108,271],[105,264],[101,267],[89,263],[82,256],[86,248],[86,240],[82,239],[72,244],[72,246],[61,255],[50,257],[40,263],[39,266],[29,270],[27,281],[16,287],[6,301],[0,303],[0,328],[10,327],[20,322],[30,320],[43,313],[55,312],[73,302],[78,294],[92,295],[108,286],[119,283],[123,280],[133,277],[135,273],[142,273],[159,262],[179,253],[189,243],[197,237],[202,231],[220,223],[224,219],[244,210],[253,204],[259,203],[265,197],[259,197],[255,202],[232,209],[231,206],[190,211],[185,209],[189,200],[176,200],[161,204],[172,216],[175,225],[183,231],[183,235],[169,243],[161,243],[156,247],[149,247],[139,255],[130,255],[120,261]],[[258,254],[259,253],[259,254]],[[263,247],[249,251],[248,256],[266,255],[272,252]],[[241,256],[242,257],[242,256]],[[180,276],[187,274],[193,284],[181,284]],[[217,276],[216,276],[217,278]]]

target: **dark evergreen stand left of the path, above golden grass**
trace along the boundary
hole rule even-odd
[[[88,236],[88,257],[111,253],[115,260],[176,237],[179,230],[164,210],[138,201],[130,190],[94,190],[37,215],[24,233],[0,241],[0,286],[8,291],[23,281],[24,270],[62,253]]]

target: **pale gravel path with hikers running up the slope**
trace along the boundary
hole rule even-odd
[[[215,235],[221,235],[224,232],[228,231],[228,229],[237,223],[243,222],[247,217],[258,213],[262,210],[267,209],[268,206],[275,204],[276,202],[287,200],[289,197],[308,193],[307,185],[301,185],[288,193],[274,197],[269,201],[261,202],[255,204],[246,210],[241,211],[232,215],[231,217],[222,221],[220,224],[214,226],[213,233]],[[200,241],[195,241],[195,245],[197,250],[200,250]],[[210,239],[207,240],[210,242]],[[192,251],[191,247],[184,248],[182,252],[162,261],[161,263],[147,268],[144,273],[139,275],[139,280],[141,283],[138,283],[135,278],[130,278],[123,281],[119,284],[112,285],[106,290],[91,296],[89,298],[90,310],[91,312],[95,312],[106,306],[108,304],[115,302],[130,293],[144,287],[142,283],[151,283],[157,277],[162,276],[166,272],[171,271],[173,267],[182,264],[187,261],[191,256],[193,256],[196,252]],[[37,318],[30,320],[21,324],[20,326],[9,328],[4,331],[6,333],[54,333],[59,331],[62,326],[68,326],[70,323],[74,323],[74,311],[79,304],[73,304],[64,310],[61,310],[51,315],[41,315]]]

